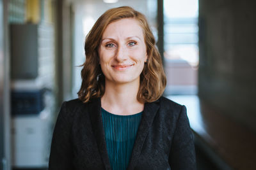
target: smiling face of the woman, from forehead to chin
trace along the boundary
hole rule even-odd
[[[138,21],[124,18],[109,24],[103,32],[98,53],[106,83],[139,83],[147,50]]]

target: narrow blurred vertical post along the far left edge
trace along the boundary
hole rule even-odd
[[[0,169],[9,170],[10,57],[8,53],[8,0],[0,0]]]

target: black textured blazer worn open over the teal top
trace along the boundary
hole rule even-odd
[[[100,99],[64,102],[52,137],[49,170],[111,169]],[[145,103],[127,169],[196,169],[185,106],[165,97]]]

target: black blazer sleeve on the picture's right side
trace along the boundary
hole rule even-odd
[[[172,139],[169,155],[172,170],[196,169],[195,145],[186,107],[182,106]]]

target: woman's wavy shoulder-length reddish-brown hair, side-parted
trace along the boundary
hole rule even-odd
[[[166,76],[163,70],[161,55],[157,50],[156,41],[150,31],[147,19],[142,13],[131,7],[122,6],[112,8],[101,15],[86,36],[84,45],[86,60],[82,65],[82,84],[77,93],[79,99],[84,103],[87,103],[92,98],[104,95],[105,76],[100,69],[98,48],[106,27],[122,18],[134,18],[139,22],[143,29],[147,47],[148,60],[140,74],[140,87],[137,94],[138,101],[141,103],[156,101],[164,92]]]

